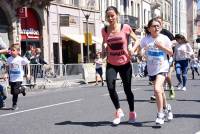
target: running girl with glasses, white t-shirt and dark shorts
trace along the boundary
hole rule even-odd
[[[152,19],[148,23],[147,36],[141,40],[140,47],[145,49],[147,57],[147,71],[154,84],[154,94],[157,104],[156,124],[164,124],[165,117],[173,119],[171,106],[167,104],[163,90],[163,84],[169,70],[167,54],[173,54],[171,41],[163,34],[160,34],[161,24],[157,19]]]

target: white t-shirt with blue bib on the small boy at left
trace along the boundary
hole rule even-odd
[[[12,57],[10,56],[7,60],[9,65],[9,77],[10,82],[23,81],[24,70],[23,65],[29,63],[27,58],[22,58],[20,56]]]

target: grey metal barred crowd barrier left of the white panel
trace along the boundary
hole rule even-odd
[[[24,66],[25,77],[27,66]],[[86,83],[84,80],[83,64],[31,64],[31,79],[24,77],[23,85],[39,88],[53,87],[59,84],[61,87],[71,86],[74,83]]]

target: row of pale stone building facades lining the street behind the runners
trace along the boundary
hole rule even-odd
[[[162,16],[164,28],[173,34],[183,34],[190,42],[197,38],[195,0],[54,0],[46,8],[17,10],[0,0],[0,17],[5,18],[0,20],[0,38],[8,46],[20,43],[22,55],[29,44],[42,48],[48,63],[92,62],[101,50],[101,29],[108,24],[105,10],[111,5],[119,10],[119,21],[130,24],[139,38],[156,16]]]

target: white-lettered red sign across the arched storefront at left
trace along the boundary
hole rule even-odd
[[[37,39],[38,40],[40,38],[40,33],[38,30],[34,30],[33,28],[22,29],[21,38],[22,38],[22,40],[27,40],[27,39]]]

